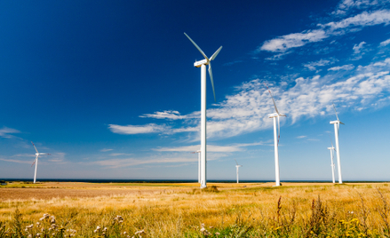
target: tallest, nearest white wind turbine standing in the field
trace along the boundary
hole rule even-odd
[[[212,86],[212,92],[214,93],[214,100],[217,101],[215,98],[215,90],[214,90],[214,82],[212,78],[212,70],[211,70],[211,61],[214,60],[220,50],[222,49],[222,46],[219,47],[217,52],[214,52],[210,58],[208,58],[204,52],[199,48],[197,44],[186,34],[187,38],[192,42],[192,44],[195,45],[196,49],[198,49],[199,52],[202,53],[204,59],[200,61],[196,61],[194,63],[194,67],[201,67],[201,188],[204,188],[207,186],[206,184],[206,65],[209,65],[209,75],[211,80],[211,86]]]

